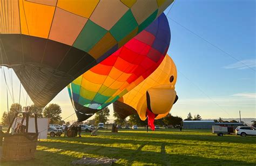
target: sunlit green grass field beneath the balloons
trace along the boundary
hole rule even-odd
[[[101,130],[98,136],[49,137],[35,160],[0,165],[70,165],[83,156],[117,158],[121,165],[256,165],[256,137],[213,135],[210,130]]]

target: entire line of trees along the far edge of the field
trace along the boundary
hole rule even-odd
[[[10,121],[13,119],[16,113],[19,113],[18,116],[22,117],[22,106],[19,103],[13,103],[9,109],[8,112],[4,112],[2,115],[2,125],[10,125]],[[50,118],[50,124],[58,124],[63,125],[65,124],[65,121],[62,120],[62,117],[60,114],[62,113],[62,109],[59,105],[56,103],[51,103],[49,106],[45,108],[36,107],[35,105],[31,105],[28,110],[29,117],[34,117],[34,114],[37,114],[37,117],[46,117]],[[108,107],[100,110],[95,114],[95,117],[89,121],[86,121],[85,123],[90,125],[97,125],[98,123],[107,123],[109,121],[110,116],[110,110]],[[120,126],[146,126],[147,120],[142,121],[139,118],[138,114],[133,114],[129,116],[129,119],[121,119],[119,115],[114,112],[114,123],[117,123]],[[9,121],[10,119],[10,121]],[[128,119],[128,120],[127,120]],[[154,124],[159,126],[177,126],[181,125],[182,118],[179,116],[172,116],[171,114],[168,114],[162,119],[155,120]],[[66,125],[69,125],[69,122],[66,122]]]

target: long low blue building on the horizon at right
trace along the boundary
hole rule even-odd
[[[183,121],[184,129],[212,129],[212,126],[215,125],[214,121]]]

